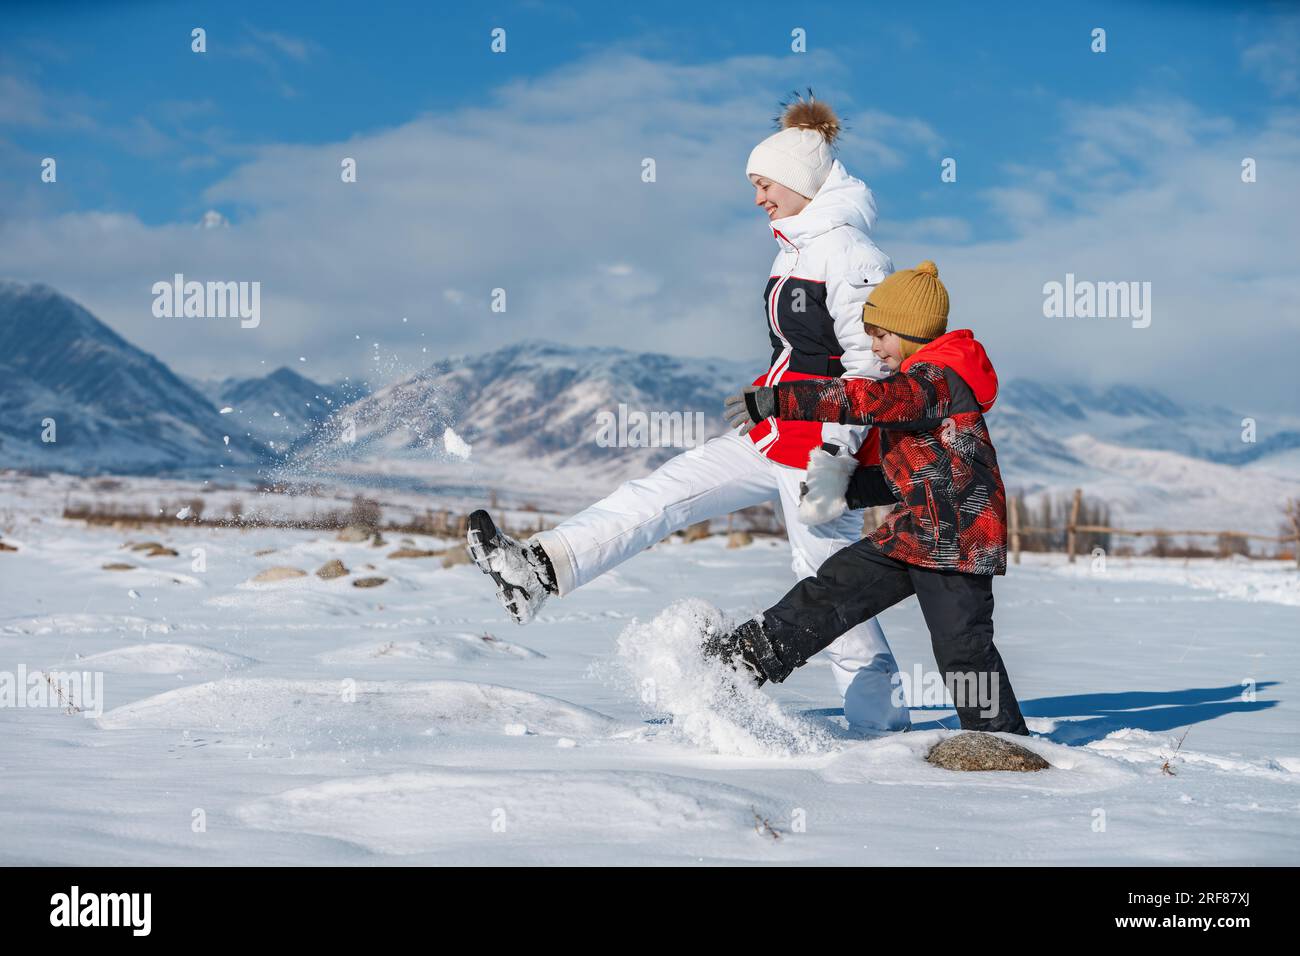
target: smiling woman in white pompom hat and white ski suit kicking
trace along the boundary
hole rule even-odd
[[[780,130],[749,156],[754,203],[779,246],[763,291],[772,359],[754,380],[758,386],[888,375],[871,351],[862,306],[893,267],[868,235],[876,217],[871,190],[832,156],[838,131],[827,104],[811,95],[796,99]],[[845,510],[845,489],[857,464],[874,463],[878,454],[870,428],[767,419],[746,434],[733,431],[684,451],[526,542],[476,511],[469,551],[523,624],[551,594],[573,592],[680,528],[775,499],[794,574],[810,578],[861,537],[862,512]],[[898,666],[875,619],[850,628],[824,653],[850,727],[909,726],[907,709],[892,698]]]

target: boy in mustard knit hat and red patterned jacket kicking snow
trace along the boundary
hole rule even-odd
[[[962,728],[1027,735],[993,645],[1006,496],[983,412],[997,376],[968,330],[948,332],[948,290],[931,261],[881,281],[862,312],[893,375],[750,386],[727,399],[725,414],[746,431],[770,415],[876,425],[880,468],[857,472],[850,506],[885,496],[897,505],[872,535],[705,650],[758,684],[780,683],[848,628],[915,594]]]

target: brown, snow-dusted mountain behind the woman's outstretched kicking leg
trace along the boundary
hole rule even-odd
[[[671,458],[682,444],[646,446],[633,438],[619,446],[602,437],[604,421],[614,423],[616,437],[620,415],[624,423],[670,415],[681,421],[679,440],[699,444],[724,429],[727,390],[751,380],[750,365],[722,359],[519,342],[448,358],[389,385],[334,415],[295,451],[304,463],[393,471],[406,462],[419,471],[459,464],[443,450],[452,428],[477,462],[491,463],[489,471],[581,472],[603,486]],[[341,442],[348,428],[355,441]]]

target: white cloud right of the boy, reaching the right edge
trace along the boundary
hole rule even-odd
[[[974,328],[1004,376],[1134,381],[1244,405],[1261,421],[1270,410],[1294,414],[1300,114],[1248,131],[1188,104],[1095,108],[1060,153],[1057,173],[1036,186],[987,196],[1011,217],[1014,238],[888,251],[896,263],[939,263],[953,325]],[[1242,182],[1247,156],[1254,183]],[[1043,285],[1066,273],[1149,281],[1150,328],[1045,319]]]

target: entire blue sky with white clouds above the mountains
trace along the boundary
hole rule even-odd
[[[1209,294],[1223,290],[1225,302],[1236,300],[1230,286],[1262,274],[1258,307],[1274,317],[1261,333],[1294,336],[1296,290],[1277,246],[1295,239],[1278,165],[1297,159],[1295,8],[987,10],[10,4],[0,12],[0,255],[10,276],[75,294],[196,375],[256,369],[235,368],[248,347],[226,329],[150,324],[134,290],[173,268],[238,278],[255,264],[250,277],[281,316],[257,342],[263,360],[291,360],[311,342],[321,377],[355,371],[361,356],[346,343],[358,334],[411,362],[417,341],[459,351],[525,334],[760,356],[750,312],[775,248],[744,163],[777,100],[811,86],[849,125],[840,157],[876,193],[878,242],[900,265],[933,256],[946,276],[952,263],[954,303],[968,303],[971,325],[988,323],[1013,371],[1035,373],[1044,346],[1060,343],[1041,371],[1152,372],[1176,390],[1186,376],[1161,358],[1173,349],[1191,360],[1222,315],[1206,290],[1182,284],[1208,269]],[[204,55],[190,51],[194,26],[207,29]],[[506,55],[489,51],[498,26]],[[1098,26],[1101,55],[1089,49]],[[789,49],[796,27],[807,53]],[[1271,163],[1260,189],[1231,198],[1240,157],[1261,151]],[[341,198],[308,187],[350,152],[365,189]],[[660,163],[654,202],[612,178],[645,155]],[[57,189],[34,174],[43,156],[58,160]],[[958,160],[957,183],[939,182],[945,156]],[[378,169],[390,190],[370,185]],[[1204,176],[1196,169],[1222,173],[1223,193],[1202,198],[1182,178]],[[620,203],[623,216],[606,215]],[[221,239],[192,234],[208,209],[230,222]],[[1144,221],[1124,224],[1124,209]],[[1256,228],[1252,216],[1266,221]],[[1216,250],[1227,237],[1210,235],[1232,229],[1271,252],[1232,261]],[[1188,232],[1204,233],[1204,247],[1182,248]],[[1178,295],[1188,306],[1140,339],[1035,324],[1043,282],[1089,269],[1150,278],[1171,312]],[[339,272],[365,295],[351,295]],[[465,300],[500,276],[524,308],[497,326],[467,319]],[[1009,281],[1023,287],[1008,297]]]

